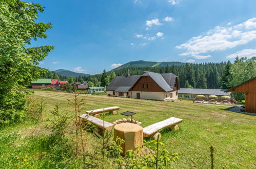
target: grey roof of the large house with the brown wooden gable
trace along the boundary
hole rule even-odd
[[[164,91],[172,91],[175,83],[175,76],[172,73],[145,72],[143,75],[117,76],[111,80],[106,90],[115,92],[127,92],[135,85],[142,76],[150,76]]]

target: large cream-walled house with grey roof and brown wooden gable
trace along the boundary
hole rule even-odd
[[[176,100],[180,89],[172,73],[145,72],[143,75],[117,76],[107,87],[108,96],[150,100]]]

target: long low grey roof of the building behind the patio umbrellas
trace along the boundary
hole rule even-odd
[[[178,92],[180,94],[202,94],[202,95],[217,95],[217,96],[230,96],[230,92],[225,92],[224,89],[190,89],[190,88],[181,88]]]

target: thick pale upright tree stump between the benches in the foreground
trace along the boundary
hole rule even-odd
[[[122,155],[125,156],[128,150],[135,150],[136,146],[143,144],[143,128],[133,123],[121,123],[114,126],[114,140],[119,137],[125,142],[121,144]]]

